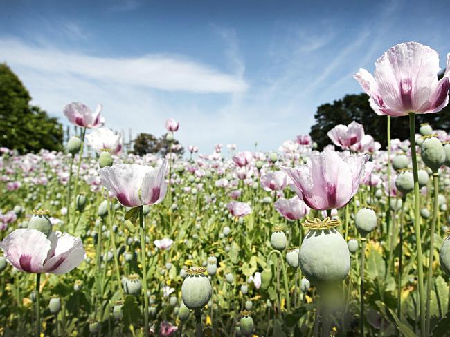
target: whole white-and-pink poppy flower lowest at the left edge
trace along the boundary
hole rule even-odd
[[[12,266],[26,273],[69,273],[85,256],[81,239],[60,231],[47,238],[36,229],[16,229],[0,248]]]

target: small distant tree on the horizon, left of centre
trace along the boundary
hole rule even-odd
[[[167,133],[159,138],[154,137],[150,133],[139,133],[134,139],[133,153],[136,155],[145,155],[147,153],[159,154],[165,157],[169,153],[168,141],[166,140]],[[171,144],[178,145],[177,139],[174,139]],[[172,150],[172,153],[183,155],[184,148],[181,146],[179,150]]]

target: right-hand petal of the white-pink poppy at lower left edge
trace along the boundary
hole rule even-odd
[[[86,252],[80,238],[75,238],[68,233],[55,232],[57,245],[53,256],[46,260],[44,271],[46,273],[69,273],[84,261]]]

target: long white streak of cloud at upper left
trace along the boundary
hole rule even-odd
[[[114,81],[117,84],[192,93],[234,93],[248,88],[240,77],[171,55],[95,57],[32,46],[13,39],[0,39],[0,50],[0,58],[11,66],[60,75],[78,75],[102,82]]]

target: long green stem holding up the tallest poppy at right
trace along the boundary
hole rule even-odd
[[[417,173],[417,154],[415,152],[415,113],[409,113],[409,136],[411,142],[411,159],[413,161],[414,176],[414,227],[415,243],[417,249],[417,270],[420,302],[420,336],[426,336],[425,324],[425,291],[424,291],[424,266],[422,262],[422,236],[420,235],[420,191],[419,177]]]

